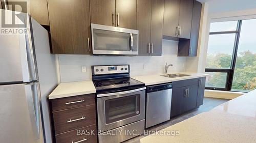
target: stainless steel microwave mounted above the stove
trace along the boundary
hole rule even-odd
[[[139,31],[91,24],[92,52],[103,55],[138,55]]]

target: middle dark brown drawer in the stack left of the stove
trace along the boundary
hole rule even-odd
[[[96,124],[95,104],[53,112],[55,134]]]

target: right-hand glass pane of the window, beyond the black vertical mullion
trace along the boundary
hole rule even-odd
[[[256,89],[256,19],[243,20],[238,44],[232,91]]]

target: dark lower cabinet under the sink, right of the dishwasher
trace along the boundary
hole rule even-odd
[[[203,104],[205,77],[173,82],[171,117]]]

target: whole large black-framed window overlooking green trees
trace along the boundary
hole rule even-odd
[[[256,19],[210,24],[206,89],[256,89]]]

